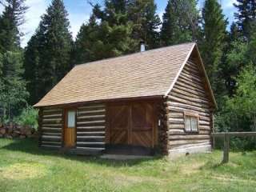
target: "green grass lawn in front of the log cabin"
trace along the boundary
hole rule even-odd
[[[256,191],[256,151],[115,162],[0,139],[0,191]]]

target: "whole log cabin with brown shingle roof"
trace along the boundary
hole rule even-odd
[[[172,157],[211,150],[217,105],[190,42],[74,66],[34,107],[41,147]]]

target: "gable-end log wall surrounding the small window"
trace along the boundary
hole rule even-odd
[[[170,150],[210,146],[212,102],[198,65],[189,60],[167,97],[167,126]],[[185,132],[184,112],[198,114],[199,133]]]

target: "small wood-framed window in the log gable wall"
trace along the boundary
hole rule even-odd
[[[187,133],[199,132],[198,114],[184,113],[185,130]]]

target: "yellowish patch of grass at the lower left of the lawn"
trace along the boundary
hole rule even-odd
[[[15,163],[0,168],[2,178],[22,180],[27,178],[39,178],[47,173],[46,166],[39,163]]]

